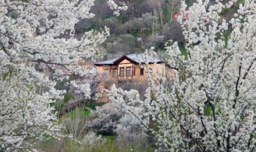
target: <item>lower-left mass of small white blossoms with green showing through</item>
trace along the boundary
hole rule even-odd
[[[55,83],[33,73],[33,67],[0,60],[0,143],[1,150],[30,147],[29,139],[57,136],[56,116],[50,103],[65,92]],[[37,92],[48,87],[49,92]]]

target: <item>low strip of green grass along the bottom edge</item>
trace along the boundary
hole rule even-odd
[[[112,152],[112,151],[121,151],[121,152],[130,152],[130,151],[141,151],[141,152],[151,152],[154,151],[149,143],[144,145],[143,142],[124,142],[123,140],[116,140],[115,137],[103,137],[105,139],[104,143],[96,143],[93,145],[87,145],[84,142],[76,142],[69,138],[49,139],[46,142],[40,142],[35,145],[39,151],[86,151],[86,152]]]

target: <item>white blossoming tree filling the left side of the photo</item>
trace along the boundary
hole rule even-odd
[[[69,71],[90,73],[82,71],[77,63],[101,55],[98,45],[109,35],[108,29],[85,32],[80,40],[73,35],[79,18],[94,16],[90,13],[93,2],[0,1],[0,151],[28,148],[34,139],[57,135],[59,126],[54,124],[56,116],[49,103],[65,91],[54,89],[55,82],[34,72],[32,63],[46,64],[59,80],[67,78]],[[110,0],[107,4],[116,15],[127,9]],[[54,69],[56,64],[65,69]],[[88,87],[79,86],[85,94],[90,93]]]

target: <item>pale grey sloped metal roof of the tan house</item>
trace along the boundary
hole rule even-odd
[[[129,58],[132,61],[135,61],[136,63],[145,63],[145,59],[143,57],[143,54],[129,54],[129,55],[124,55],[120,58],[114,58],[112,60],[107,60],[107,61],[102,61],[99,63],[95,63],[95,65],[100,65],[100,64],[118,64],[117,61],[120,60],[121,58]],[[148,63],[159,63],[163,62],[157,58],[154,57],[148,57],[147,58]]]

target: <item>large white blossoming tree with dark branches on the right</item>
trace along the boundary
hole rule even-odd
[[[179,22],[188,57],[177,43],[166,43],[166,63],[176,67],[173,85],[148,69],[145,100],[127,97],[115,86],[109,98],[135,116],[143,109],[137,119],[163,150],[255,151],[256,3],[245,0],[227,22],[220,14],[235,1],[208,2],[197,0],[188,18],[182,18],[182,4]]]

